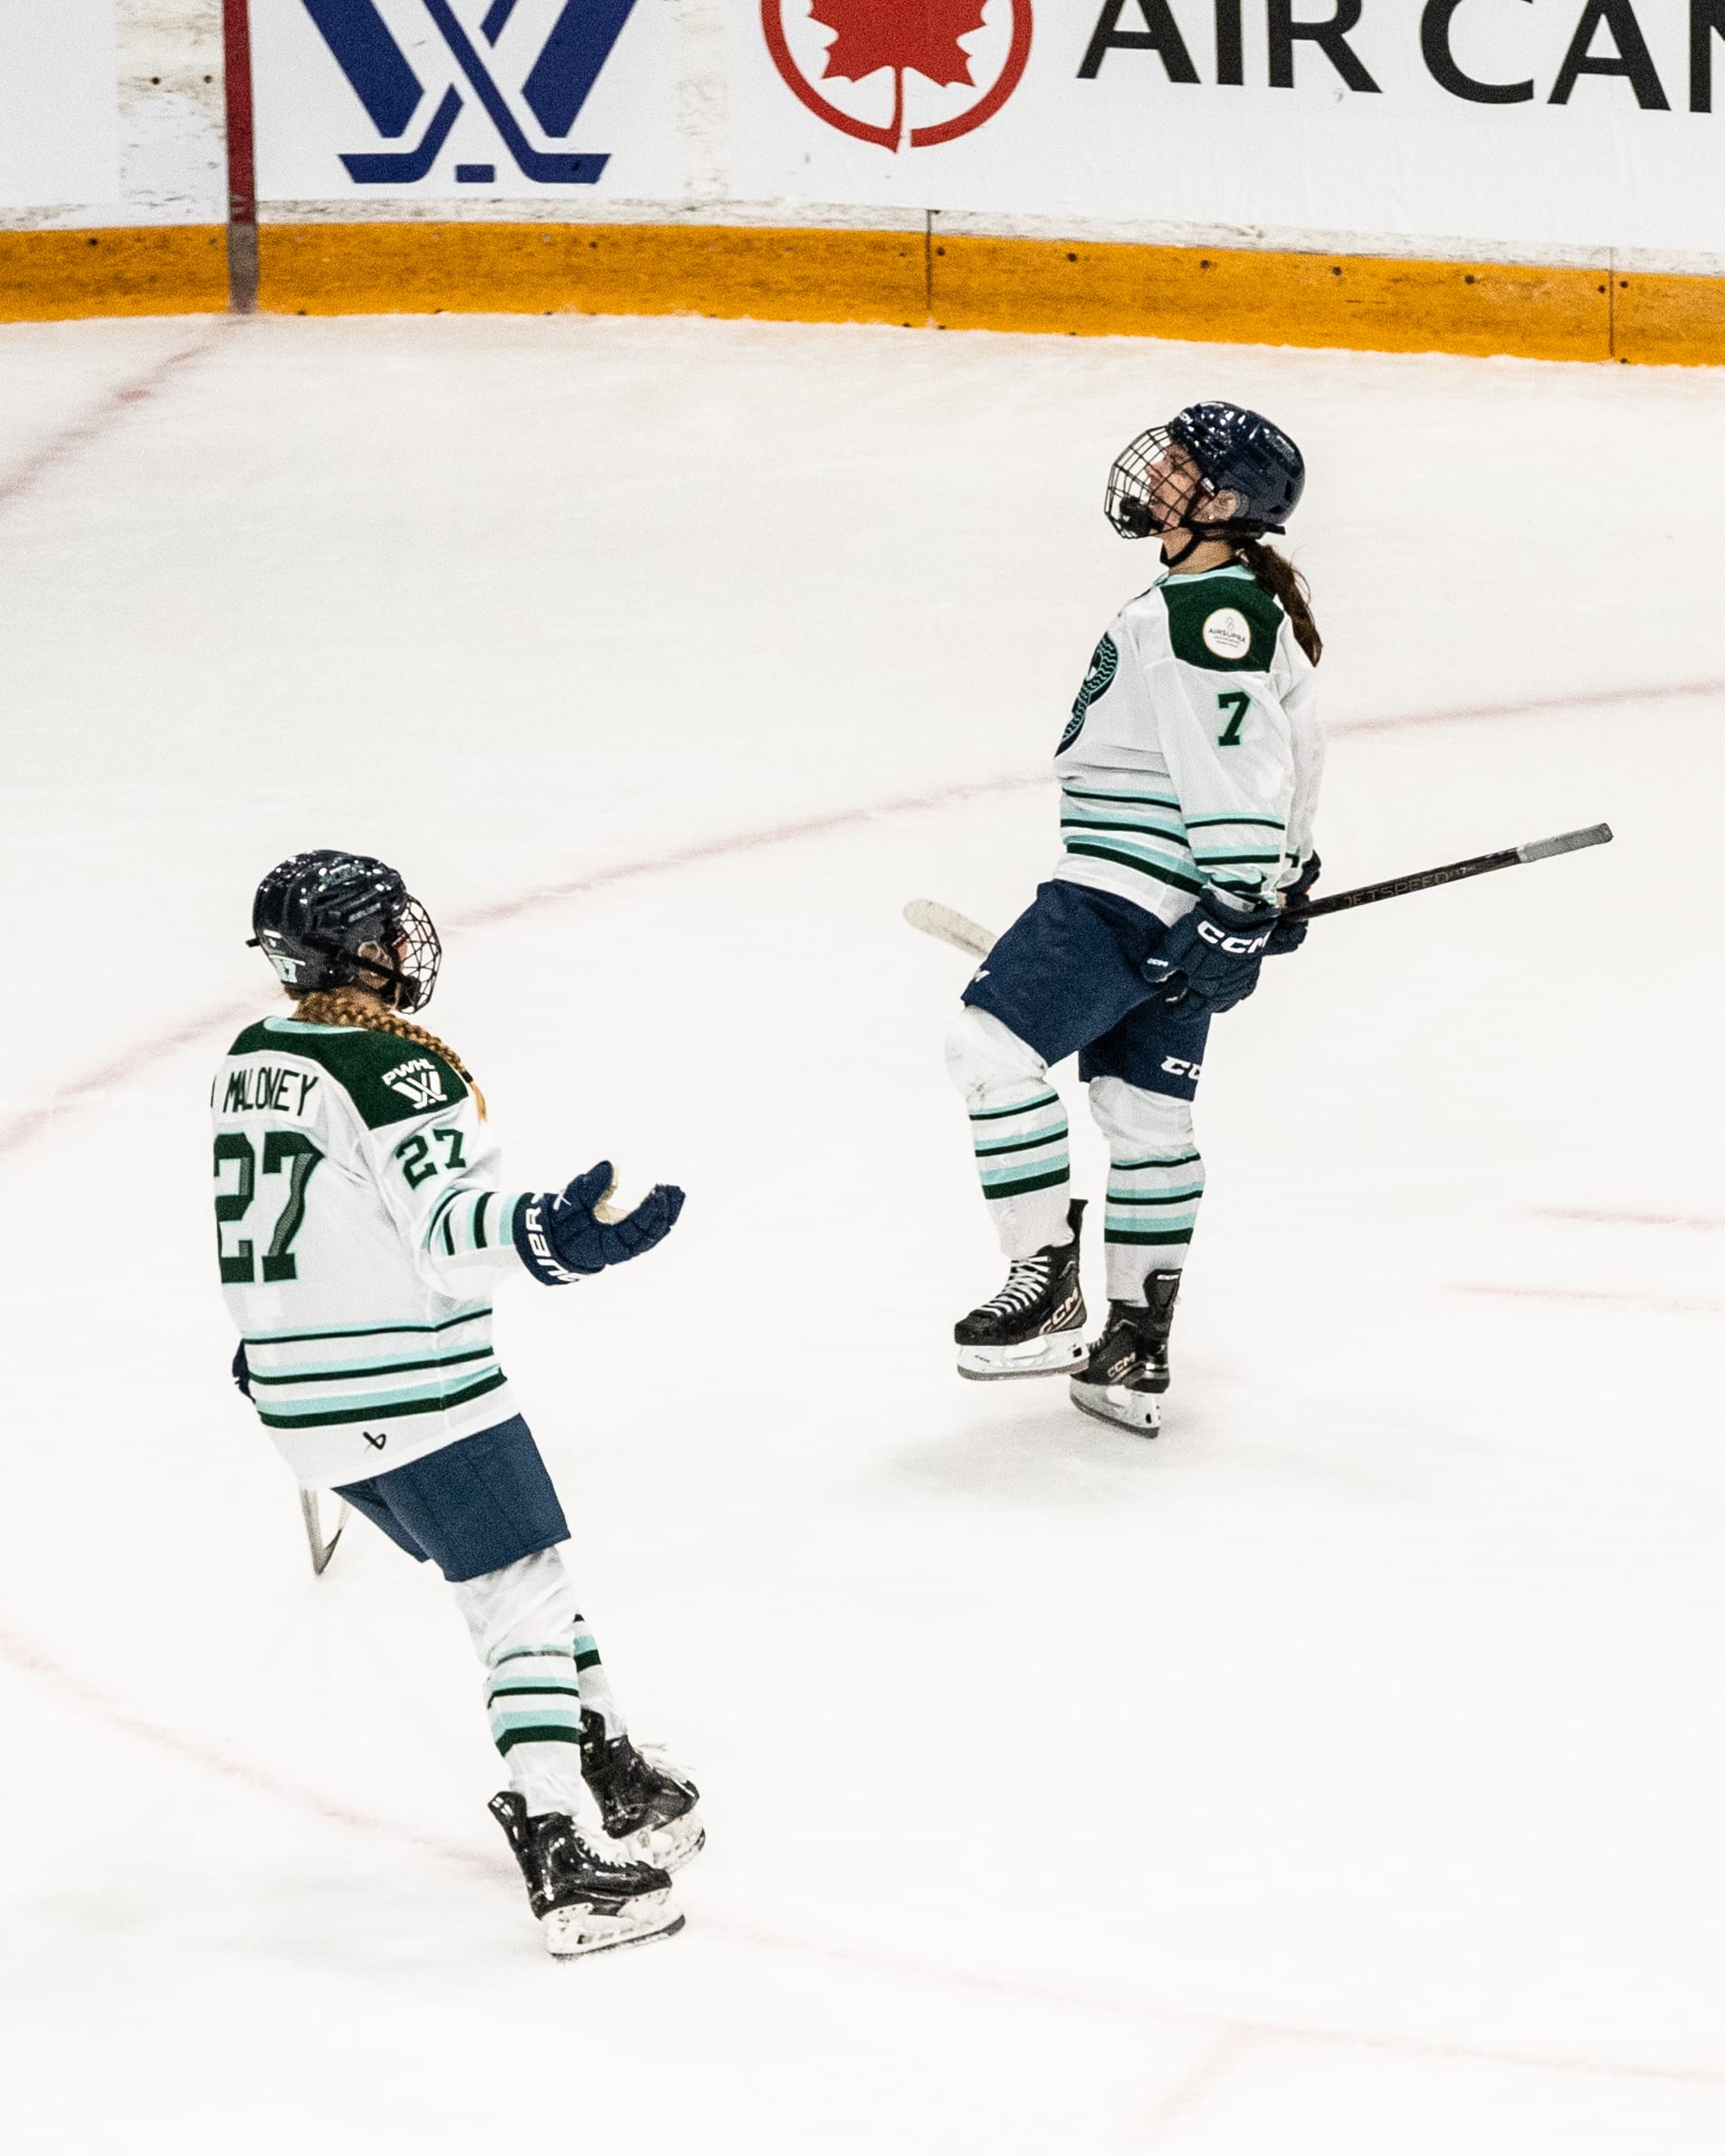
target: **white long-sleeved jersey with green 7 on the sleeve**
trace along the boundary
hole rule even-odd
[[[1244,563],[1164,576],[1095,647],[1054,755],[1057,877],[1167,923],[1205,884],[1261,903],[1311,854],[1324,772],[1311,660]]]

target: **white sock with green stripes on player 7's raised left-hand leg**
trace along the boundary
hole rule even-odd
[[[1048,1065],[1016,1033],[966,1005],[947,1069],[970,1112],[970,1145],[1000,1250],[1033,1257],[1072,1240],[1072,1147]]]

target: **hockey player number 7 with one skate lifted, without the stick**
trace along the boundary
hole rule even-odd
[[[1188,405],[1141,433],[1104,509],[1160,539],[1164,573],[1095,647],[1054,774],[1063,856],[994,944],[947,1044],[983,1197],[1011,1263],[955,1328],[966,1378],[1072,1373],[1089,1414],[1154,1434],[1203,1162],[1192,1100],[1210,1020],[1305,927],[1322,640],[1302,580],[1264,543],[1305,489],[1257,412]],[[1078,1052],[1108,1138],[1108,1317],[1085,1343],[1082,1199],[1048,1069]]]

